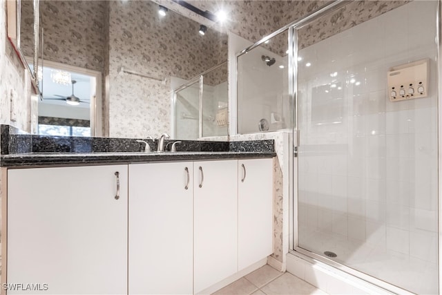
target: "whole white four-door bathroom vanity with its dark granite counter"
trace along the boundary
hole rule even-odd
[[[273,253],[274,156],[3,155],[2,283],[47,284],[37,294],[203,292]]]

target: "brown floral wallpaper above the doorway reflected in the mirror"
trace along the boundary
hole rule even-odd
[[[102,72],[106,6],[106,1],[40,0],[45,59]]]

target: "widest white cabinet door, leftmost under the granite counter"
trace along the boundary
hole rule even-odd
[[[8,294],[126,294],[127,165],[8,170],[7,220]]]

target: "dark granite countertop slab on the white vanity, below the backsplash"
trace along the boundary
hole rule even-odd
[[[187,151],[164,153],[20,153],[1,156],[1,166],[19,168],[23,166],[78,166],[84,164],[131,164],[140,162],[175,162],[229,160],[247,158],[273,158],[272,151]]]

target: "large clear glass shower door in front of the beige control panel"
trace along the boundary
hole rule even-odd
[[[397,2],[298,29],[297,250],[437,294],[438,1]]]

